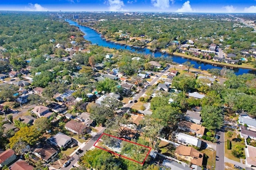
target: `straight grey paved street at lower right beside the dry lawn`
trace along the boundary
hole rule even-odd
[[[219,144],[216,145],[216,170],[225,170],[224,166],[224,132],[220,131],[217,133],[220,136]]]

